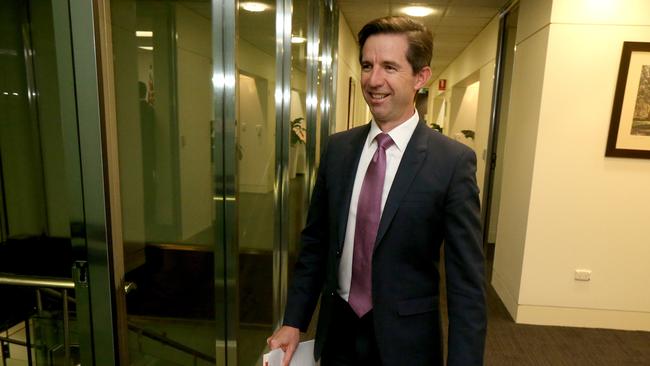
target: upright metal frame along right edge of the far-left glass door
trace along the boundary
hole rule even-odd
[[[91,342],[93,365],[116,365],[116,285],[112,277],[115,237],[109,220],[114,217],[109,202],[115,197],[108,189],[109,105],[103,89],[102,71],[106,70],[100,67],[106,55],[100,52],[99,27],[105,19],[98,15],[106,2],[69,0],[69,6],[91,313],[90,324],[80,330],[80,337]]]

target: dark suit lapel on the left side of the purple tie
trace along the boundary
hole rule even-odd
[[[356,130],[356,134],[351,136],[348,144],[343,147],[341,151],[343,157],[342,184],[343,196],[339,205],[338,215],[338,244],[339,249],[343,247],[345,241],[345,230],[348,224],[348,213],[350,210],[350,201],[352,200],[352,188],[354,187],[354,177],[357,173],[357,166],[361,158],[361,151],[363,151],[363,144],[366,142],[366,137],[370,131],[370,124],[363,126]]]

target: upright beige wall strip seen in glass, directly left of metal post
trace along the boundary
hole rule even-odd
[[[212,225],[210,21],[176,7],[181,239]]]

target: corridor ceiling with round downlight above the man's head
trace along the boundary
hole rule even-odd
[[[341,0],[343,17],[356,34],[368,21],[400,15],[408,5],[430,6],[436,10],[430,16],[418,18],[433,32],[432,80],[442,73],[488,22],[511,0]]]

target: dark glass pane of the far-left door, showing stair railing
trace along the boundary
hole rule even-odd
[[[69,14],[0,2],[2,364],[92,357],[88,287],[72,279],[86,230]]]

